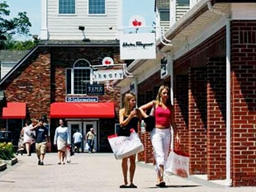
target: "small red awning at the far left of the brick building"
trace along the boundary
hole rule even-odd
[[[7,102],[2,108],[2,119],[26,119],[26,103]]]

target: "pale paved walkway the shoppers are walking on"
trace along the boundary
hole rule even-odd
[[[175,191],[175,192],[245,192],[256,187],[225,187],[201,180],[195,176],[183,179],[178,176],[165,178],[166,188],[155,186],[152,164],[137,162],[135,185],[137,189],[120,189],[123,183],[121,160],[111,153],[75,154],[70,164],[57,165],[57,154],[47,153],[45,166],[38,166],[36,154],[31,157],[18,155],[18,163],[0,172],[2,192],[115,192],[115,191]]]

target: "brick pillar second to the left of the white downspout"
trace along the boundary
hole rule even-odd
[[[188,124],[192,174],[206,174],[206,115],[206,68],[191,68],[188,92]]]

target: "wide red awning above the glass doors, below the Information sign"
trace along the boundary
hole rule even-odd
[[[114,118],[115,107],[109,103],[55,102],[50,104],[51,118]]]

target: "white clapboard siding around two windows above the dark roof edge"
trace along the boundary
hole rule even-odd
[[[50,40],[83,40],[84,34],[90,40],[115,40],[118,26],[118,0],[107,0],[106,15],[88,15],[88,1],[76,1],[76,13],[59,14],[59,1],[50,0],[47,4],[47,28]],[[113,30],[109,30],[109,26]]]

